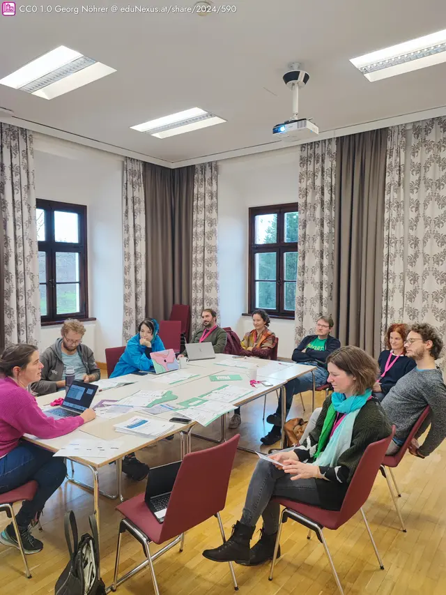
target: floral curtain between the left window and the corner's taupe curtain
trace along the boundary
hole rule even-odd
[[[144,163],[125,158],[123,178],[124,319],[123,340],[146,316],[146,206]]]

